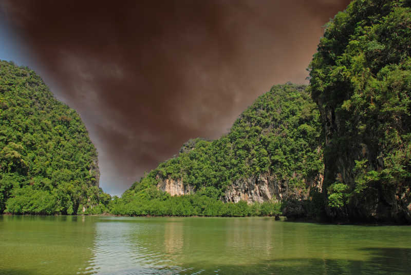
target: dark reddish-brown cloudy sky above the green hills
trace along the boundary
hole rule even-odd
[[[347,0],[0,2],[0,59],[76,109],[120,195],[191,138],[218,139],[271,86],[307,84]]]

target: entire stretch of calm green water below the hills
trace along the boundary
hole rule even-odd
[[[0,216],[0,274],[410,274],[410,226]]]

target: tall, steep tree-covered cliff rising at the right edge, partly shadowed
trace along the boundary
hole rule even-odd
[[[329,215],[411,221],[410,7],[351,2],[327,25],[310,64]]]

